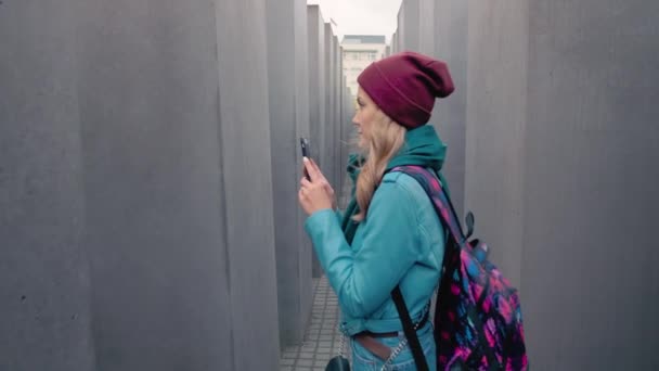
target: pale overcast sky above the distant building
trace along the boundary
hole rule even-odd
[[[320,4],[325,22],[334,20],[339,41],[344,35],[384,35],[387,42],[396,31],[402,0],[308,0]]]

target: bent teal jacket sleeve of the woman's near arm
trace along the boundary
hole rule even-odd
[[[305,225],[341,310],[352,318],[374,312],[421,257],[414,200],[402,184],[383,182],[362,222],[357,252],[334,212],[316,212]]]

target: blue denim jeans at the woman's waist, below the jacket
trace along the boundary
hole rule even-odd
[[[436,371],[437,351],[435,347],[435,337],[432,336],[432,324],[430,321],[418,330],[416,334],[424,355],[426,356],[428,369],[430,371]],[[405,335],[402,331],[400,331],[398,337],[376,337],[375,340],[393,350],[403,338],[405,338]],[[369,349],[361,346],[354,340],[350,341],[350,345],[352,346],[353,371],[382,370],[383,366],[385,364],[383,359],[372,354]],[[414,363],[414,357],[412,356],[412,350],[410,349],[409,344],[406,344],[403,350],[391,360],[386,370],[416,370],[416,363]]]

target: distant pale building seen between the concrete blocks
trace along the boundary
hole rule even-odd
[[[357,95],[357,76],[371,63],[385,57],[387,43],[385,36],[346,35],[341,41],[344,48],[344,75],[352,95]]]

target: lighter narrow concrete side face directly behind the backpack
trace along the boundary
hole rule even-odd
[[[522,3],[509,5],[519,10]],[[469,2],[465,209],[476,214],[478,235],[489,241],[495,261],[519,284],[528,18],[504,12],[506,7]],[[494,17],[499,29],[477,27]]]

